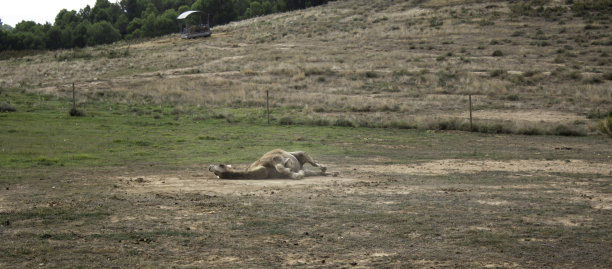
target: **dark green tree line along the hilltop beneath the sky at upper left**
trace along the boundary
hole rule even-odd
[[[155,37],[177,32],[176,17],[187,10],[211,14],[211,25],[321,5],[329,0],[96,0],[75,10],[62,9],[55,22],[22,21],[10,27],[0,20],[0,51],[55,50]]]

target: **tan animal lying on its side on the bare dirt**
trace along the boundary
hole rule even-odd
[[[321,171],[306,171],[304,164],[309,163]],[[252,163],[246,171],[235,171],[231,165],[211,165],[208,171],[222,179],[271,179],[290,178],[302,179],[307,176],[327,176],[327,167],[316,163],[306,152],[286,152],[275,149],[264,154]]]

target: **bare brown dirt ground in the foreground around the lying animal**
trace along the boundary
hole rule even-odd
[[[297,181],[199,166],[46,173],[2,186],[0,266],[612,264],[610,162],[384,161]]]

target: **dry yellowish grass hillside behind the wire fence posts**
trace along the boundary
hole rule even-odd
[[[63,96],[76,82],[88,100],[212,108],[260,106],[268,90],[273,106],[309,117],[411,126],[467,115],[468,93],[476,118],[537,109],[589,122],[589,111],[612,110],[605,27],[571,12],[517,17],[498,1],[420,2],[338,1],[216,27],[209,39],[131,44],[118,58],[128,44],[5,60],[0,86]],[[523,121],[534,119],[508,126]],[[579,125],[596,132],[595,122]]]

